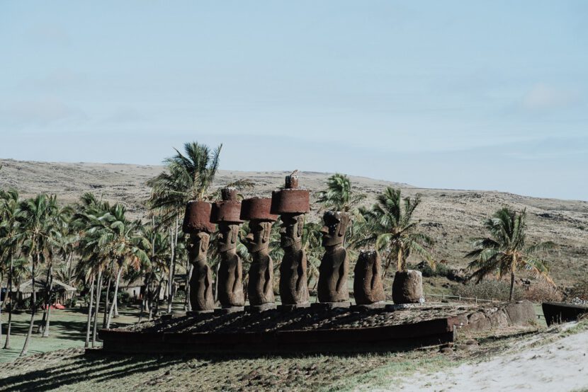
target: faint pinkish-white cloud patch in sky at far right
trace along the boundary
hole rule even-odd
[[[528,91],[522,100],[523,108],[533,112],[545,112],[568,108],[579,101],[579,93],[563,88],[538,83]]]

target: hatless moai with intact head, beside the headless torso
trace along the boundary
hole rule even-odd
[[[325,252],[319,267],[317,294],[319,301],[329,307],[349,306],[349,258],[343,247],[349,225],[346,212],[327,211],[322,217],[322,246]]]

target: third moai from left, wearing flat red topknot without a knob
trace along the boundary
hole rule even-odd
[[[253,259],[247,286],[250,311],[276,309],[273,299],[273,261],[268,250],[271,226],[278,216],[270,214],[270,209],[270,198],[251,197],[241,204],[241,219],[249,221],[250,231],[245,246]]]

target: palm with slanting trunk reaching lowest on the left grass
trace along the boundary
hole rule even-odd
[[[19,234],[19,238],[22,239],[23,250],[31,258],[31,277],[33,279],[30,323],[21,357],[25,356],[28,352],[30,335],[33,333],[33,324],[35,323],[35,313],[37,311],[35,267],[37,267],[38,263],[52,258],[52,246],[55,244],[55,238],[60,236],[60,231],[55,226],[54,216],[59,209],[55,201],[55,195],[47,196],[41,194],[37,195],[34,199],[23,200],[20,206],[22,211],[22,231]]]

